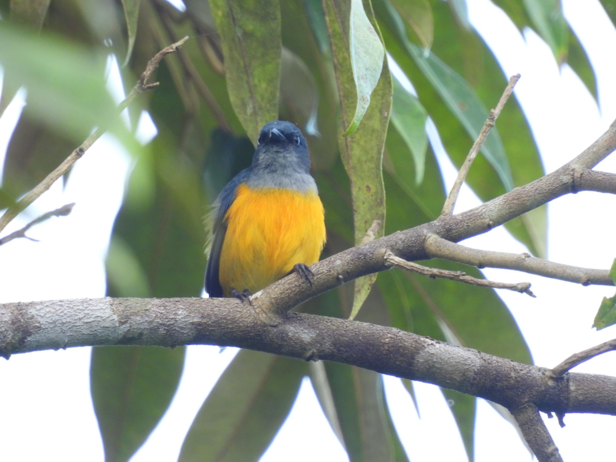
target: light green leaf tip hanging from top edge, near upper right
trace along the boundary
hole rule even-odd
[[[562,14],[561,0],[523,0],[535,30],[552,49],[556,62],[567,59],[569,28]]]

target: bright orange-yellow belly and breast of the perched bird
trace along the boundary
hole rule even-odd
[[[256,293],[288,274],[293,265],[317,262],[325,245],[317,192],[242,184],[225,219],[219,270],[225,297],[232,289]]]

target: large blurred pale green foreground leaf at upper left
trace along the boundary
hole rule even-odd
[[[97,126],[110,130],[129,150],[139,150],[105,87],[103,52],[51,35],[29,34],[6,22],[0,23],[0,43],[0,65],[26,87],[33,119],[68,139]]]

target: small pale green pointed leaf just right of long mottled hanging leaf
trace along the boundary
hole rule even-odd
[[[407,144],[415,163],[415,182],[421,183],[426,164],[428,136],[426,120],[428,113],[415,95],[404,89],[394,77],[394,102],[391,108],[391,123]]]

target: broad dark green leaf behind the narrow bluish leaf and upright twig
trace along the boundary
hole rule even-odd
[[[375,5],[379,6],[377,11],[389,53],[413,82],[419,100],[437,126],[448,155],[454,164],[460,166],[474,139],[466,129],[461,128],[455,113],[444,105],[444,100],[432,82],[418,68],[415,60],[410,58],[407,48],[402,43],[407,39],[403,35],[405,32],[400,17],[391,7],[387,7],[386,2],[378,2]],[[443,25],[439,28],[439,34],[435,36],[432,51],[446,57],[448,65],[452,65],[456,71],[465,73],[476,94],[493,107],[500,99],[506,86],[506,79],[503,77],[499,81],[493,78],[501,71],[492,52],[474,31],[467,31],[456,24],[447,2],[436,2],[432,4],[432,9],[437,23]],[[499,127],[507,128],[500,134],[506,153],[512,159],[509,168],[514,185],[526,184],[543,175],[541,161],[528,123],[514,97],[509,99],[497,124]],[[484,156],[477,156],[466,181],[482,200],[489,200],[505,192],[501,182],[486,180],[495,176],[496,171],[493,166]],[[527,245],[533,254],[545,256],[545,207],[514,219],[505,227],[514,237]]]

